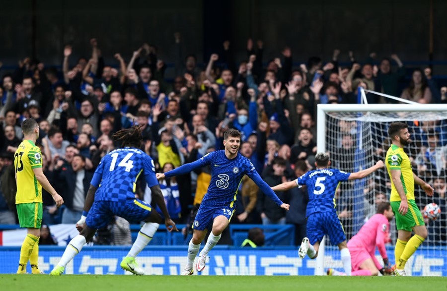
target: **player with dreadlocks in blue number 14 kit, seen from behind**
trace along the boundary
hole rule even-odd
[[[167,229],[177,231],[175,223],[166,210],[164,198],[155,177],[153,161],[139,149],[142,143],[140,127],[134,125],[132,128],[116,132],[112,137],[121,141],[123,147],[102,158],[91,180],[85,198],[84,212],[76,224],[80,233],[69,242],[61,260],[50,275],[62,275],[67,264],[81,251],[84,244],[92,239],[96,230],[107,226],[115,215],[130,223],[145,222],[131,250],[120,264],[124,270],[135,275],[144,275],[135,257],[152,239],[162,219],[149,204],[135,198],[136,182],[141,174],[148,183],[153,200],[165,217],[164,223]]]

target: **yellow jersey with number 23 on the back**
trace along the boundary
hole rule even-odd
[[[37,181],[33,169],[42,168],[42,153],[30,140],[20,143],[14,154],[17,193],[15,204],[42,203],[42,185]]]

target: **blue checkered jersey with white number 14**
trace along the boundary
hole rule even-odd
[[[142,150],[125,147],[104,156],[91,184],[99,188],[95,201],[135,199],[136,182],[143,174],[149,187],[158,185],[152,159]]]

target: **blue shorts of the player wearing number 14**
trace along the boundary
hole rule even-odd
[[[151,210],[150,205],[140,199],[128,199],[120,202],[95,201],[88,211],[85,223],[90,229],[102,229],[116,215],[131,224],[139,224],[150,216]]]

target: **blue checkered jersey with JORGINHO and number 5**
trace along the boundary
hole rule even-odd
[[[315,212],[335,212],[335,193],[341,181],[346,181],[350,173],[337,169],[309,171],[298,177],[298,185],[306,185],[309,194],[306,217]]]

